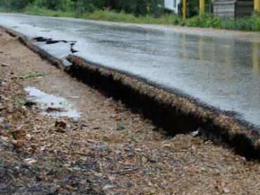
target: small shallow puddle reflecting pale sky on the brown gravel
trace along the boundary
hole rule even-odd
[[[78,110],[73,108],[72,103],[63,97],[56,97],[32,87],[25,88],[25,91],[29,93],[27,99],[32,102],[38,102],[43,113],[48,116],[67,116],[70,118],[78,118],[80,116]]]

